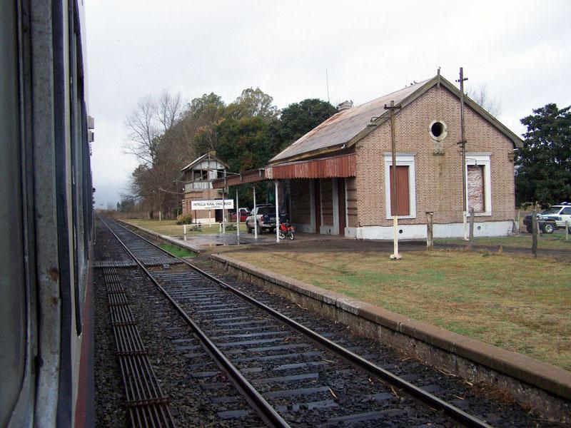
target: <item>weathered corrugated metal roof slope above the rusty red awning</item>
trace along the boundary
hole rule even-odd
[[[370,122],[370,118],[380,117],[384,114],[388,115],[388,111],[385,110],[385,104],[389,104],[390,101],[395,101],[395,104],[398,104],[427,82],[428,80],[415,83],[400,89],[400,91],[388,93],[368,103],[335,113],[325,122],[306,133],[305,136],[299,138],[298,141],[285,148],[281,153],[271,158],[269,163],[322,148],[342,146],[360,131],[363,131],[367,127],[367,123]]]

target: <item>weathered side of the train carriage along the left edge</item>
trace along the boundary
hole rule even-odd
[[[93,424],[83,2],[0,14],[0,427]]]

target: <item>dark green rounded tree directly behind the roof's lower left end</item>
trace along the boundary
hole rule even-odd
[[[337,108],[318,98],[307,98],[283,108],[280,131],[282,148],[298,140],[335,113]]]

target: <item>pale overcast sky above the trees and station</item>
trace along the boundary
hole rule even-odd
[[[278,108],[305,98],[355,105],[463,66],[487,86],[500,121],[546,103],[568,106],[571,1],[86,0],[96,208],[126,192],[126,116],[139,98],[259,87]]]

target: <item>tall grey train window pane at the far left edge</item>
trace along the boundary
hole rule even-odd
[[[18,402],[26,362],[26,281],[21,192],[15,1],[0,14],[0,426]],[[7,9],[7,10],[6,10]]]

